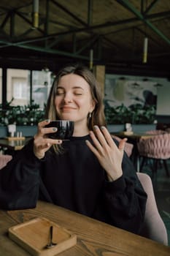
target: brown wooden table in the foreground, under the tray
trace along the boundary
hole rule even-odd
[[[36,208],[0,210],[0,255],[28,256],[8,237],[8,228],[35,217],[45,217],[77,235],[77,245],[62,256],[169,256],[170,247],[125,230],[98,222],[81,214],[39,201]]]

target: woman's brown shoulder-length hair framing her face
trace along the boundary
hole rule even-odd
[[[103,105],[103,98],[101,96],[100,86],[98,85],[98,82],[95,76],[93,75],[93,73],[90,72],[90,69],[88,69],[88,67],[85,67],[82,64],[70,64],[70,65],[67,65],[66,67],[63,67],[63,69],[61,69],[58,72],[53,82],[53,86],[50,89],[49,97],[47,99],[47,108],[46,108],[45,117],[50,120],[59,119],[59,117],[57,116],[57,113],[55,110],[55,104],[54,104],[55,96],[57,94],[57,87],[61,77],[63,77],[63,75],[69,75],[69,74],[80,75],[82,78],[86,80],[86,82],[90,86],[90,93],[92,95],[92,98],[96,103],[95,109],[87,117],[88,129],[93,130],[94,125],[98,125],[98,127],[105,126],[106,121],[104,117],[104,105]]]

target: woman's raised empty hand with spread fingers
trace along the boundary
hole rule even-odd
[[[90,138],[93,140],[94,146],[88,140],[86,143],[106,170],[109,181],[115,181],[123,175],[122,160],[127,139],[120,140],[117,147],[106,127],[99,129],[95,126],[94,129],[95,133],[90,131]]]

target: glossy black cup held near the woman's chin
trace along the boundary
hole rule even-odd
[[[70,140],[74,132],[74,121],[56,120],[50,121],[45,127],[56,127],[57,132],[48,133],[48,138],[54,140]]]

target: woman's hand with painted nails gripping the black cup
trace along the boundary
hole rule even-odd
[[[49,124],[50,120],[41,121],[38,124],[38,129],[36,135],[34,135],[34,154],[37,158],[42,159],[45,157],[45,152],[49,150],[49,148],[56,144],[61,144],[62,140],[53,140],[47,138],[48,133],[56,132],[57,128],[46,128],[45,125]]]

